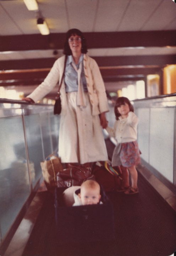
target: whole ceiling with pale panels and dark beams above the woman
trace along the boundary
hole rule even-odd
[[[62,55],[65,32],[78,28],[106,89],[118,88],[176,64],[176,4],[172,0],[37,0],[28,11],[23,0],[0,0],[0,86],[25,95]],[[42,36],[37,18],[50,34]],[[55,94],[55,89],[50,97]]]

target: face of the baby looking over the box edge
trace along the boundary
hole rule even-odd
[[[99,188],[81,188],[79,197],[82,205],[98,204],[101,198]]]

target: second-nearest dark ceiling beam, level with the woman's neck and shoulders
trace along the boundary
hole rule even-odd
[[[126,66],[126,65],[167,65],[176,64],[176,55],[134,55],[134,56],[105,56],[93,57],[98,65],[101,66]],[[21,60],[2,60],[0,70],[17,69],[38,69],[51,68],[55,58],[45,59],[21,59]]]

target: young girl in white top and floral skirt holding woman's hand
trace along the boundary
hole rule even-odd
[[[106,127],[109,135],[117,140],[117,145],[112,155],[112,166],[121,165],[123,187],[119,191],[125,191],[125,194],[136,194],[139,192],[136,165],[141,161],[136,141],[138,118],[133,113],[134,108],[126,97],[117,98],[114,112],[116,116],[114,128]],[[128,171],[131,176],[131,187]]]

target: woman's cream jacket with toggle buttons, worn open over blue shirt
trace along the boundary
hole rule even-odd
[[[57,59],[51,68],[49,74],[46,76],[45,80],[40,84],[30,95],[27,97],[32,98],[35,102],[41,100],[45,95],[47,95],[56,84],[59,85],[63,71],[64,71],[64,60],[65,56]],[[83,59],[84,74],[86,76],[87,88],[90,98],[90,103],[92,105],[92,115],[98,115],[102,112],[107,112],[108,101],[105,92],[105,86],[103,79],[100,74],[97,63],[94,59],[90,58],[87,54],[84,54]],[[62,83],[61,86],[61,103],[62,112],[61,114],[66,114],[67,111],[67,100],[65,92],[65,84]]]

